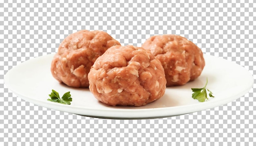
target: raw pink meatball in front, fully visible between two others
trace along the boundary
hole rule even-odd
[[[95,61],[88,79],[93,95],[110,106],[143,106],[166,89],[161,62],[132,45],[110,47]]]

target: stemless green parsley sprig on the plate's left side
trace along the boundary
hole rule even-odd
[[[51,102],[57,102],[57,103],[60,103],[60,104],[71,104],[70,102],[72,102],[72,98],[71,98],[71,95],[70,95],[70,92],[67,92],[65,93],[61,98],[60,96],[58,95],[58,92],[52,90],[52,93],[49,94],[49,101]]]

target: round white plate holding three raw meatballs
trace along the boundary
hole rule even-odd
[[[18,97],[38,106],[90,117],[114,119],[147,119],[171,117],[202,111],[227,104],[245,95],[253,86],[252,75],[242,66],[204,55],[206,66],[200,77],[184,86],[168,87],[162,98],[141,107],[107,106],[93,97],[89,89],[70,88],[57,82],[50,67],[54,54],[33,58],[13,67],[4,76],[7,87]],[[208,77],[207,88],[214,98],[198,102],[192,98],[191,88],[202,88]],[[71,105],[47,101],[52,89],[62,96],[70,91]]]

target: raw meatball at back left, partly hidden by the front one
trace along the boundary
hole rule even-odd
[[[82,30],[61,42],[51,65],[53,77],[71,87],[88,87],[88,73],[95,60],[120,43],[104,31]]]

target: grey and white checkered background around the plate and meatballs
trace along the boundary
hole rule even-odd
[[[256,145],[255,84],[249,93],[223,106],[139,120],[83,117],[37,106],[13,94],[4,85],[4,74],[9,69],[31,58],[55,53],[67,35],[81,29],[103,30],[122,45],[135,46],[141,46],[152,35],[182,35],[203,53],[245,67],[255,81],[256,3],[249,3],[253,0],[86,2],[1,0],[1,146]]]

